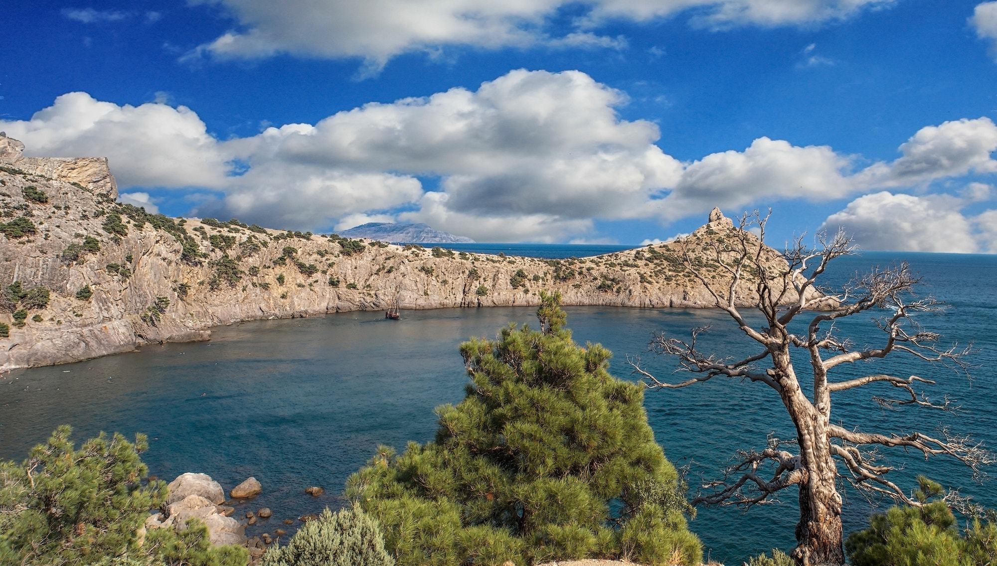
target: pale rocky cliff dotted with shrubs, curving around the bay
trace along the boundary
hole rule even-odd
[[[6,156],[0,147],[0,322],[10,326],[0,338],[3,369],[206,340],[221,324],[380,310],[394,301],[402,309],[536,305],[542,289],[560,291],[565,305],[714,304],[682,266],[676,243],[557,261],[170,219],[116,203],[107,159],[21,157],[10,145]],[[715,215],[685,241],[702,247],[734,229]],[[783,260],[773,250],[771,261]],[[48,304],[12,300],[14,282],[48,289]],[[753,304],[753,293],[744,293],[738,302]]]

